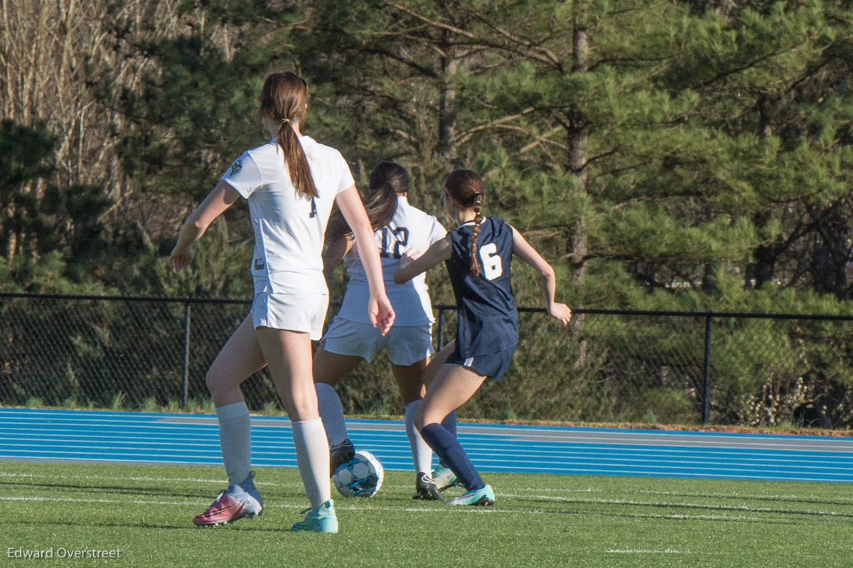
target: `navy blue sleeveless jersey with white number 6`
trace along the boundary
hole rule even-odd
[[[456,352],[462,357],[495,353],[519,341],[509,273],[513,258],[513,229],[500,217],[485,217],[477,235],[480,274],[471,272],[470,239],[473,221],[450,231],[453,252],[445,261],[459,307]]]

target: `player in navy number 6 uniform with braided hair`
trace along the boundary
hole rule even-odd
[[[444,261],[459,308],[453,352],[427,386],[415,413],[415,426],[466,492],[448,505],[490,506],[495,492],[485,484],[454,432],[442,421],[471,398],[483,381],[500,380],[519,338],[518,314],[510,287],[513,255],[538,270],[548,300],[548,314],[563,325],[572,318],[566,304],[554,301],[554,269],[525,238],[500,217],[483,217],[483,181],[470,170],[444,178],[444,210],[458,228],[419,256],[400,259],[394,281],[402,283]]]

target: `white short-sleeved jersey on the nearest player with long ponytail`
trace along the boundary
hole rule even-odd
[[[299,194],[275,139],[244,152],[222,179],[249,204],[255,293],[328,294],[322,244],[334,198],[355,182],[334,148],[299,136],[319,197]],[[367,310],[365,310],[367,311]]]

